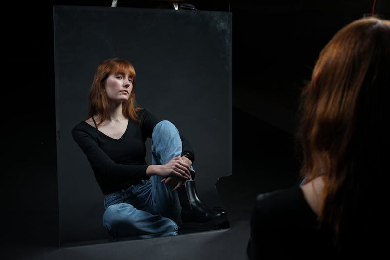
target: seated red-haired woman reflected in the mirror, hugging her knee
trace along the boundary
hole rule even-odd
[[[88,119],[72,130],[105,195],[109,234],[176,235],[183,220],[226,222],[223,212],[208,208],[196,194],[189,141],[171,122],[137,106],[135,86],[128,61],[102,61],[90,89]],[[147,138],[152,165],[145,161]]]

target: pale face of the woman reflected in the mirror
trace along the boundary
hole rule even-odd
[[[125,102],[133,89],[133,78],[129,74],[110,74],[104,84],[108,100]]]

